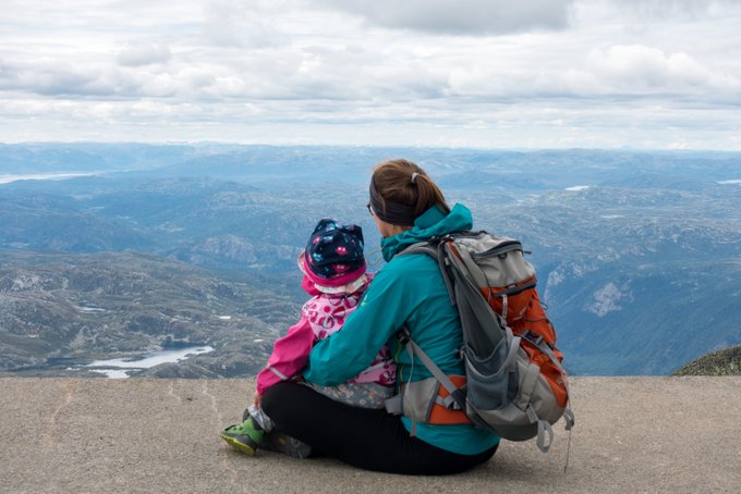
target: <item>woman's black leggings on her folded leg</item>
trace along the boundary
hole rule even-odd
[[[497,447],[459,455],[410,436],[399,416],[335,402],[308,386],[278,383],[262,408],[276,429],[313,449],[366,470],[409,474],[459,473],[487,461]]]

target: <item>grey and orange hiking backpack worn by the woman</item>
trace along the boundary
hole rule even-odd
[[[563,417],[571,430],[573,413],[556,332],[521,243],[486,232],[462,232],[414,244],[399,255],[412,254],[429,255],[440,265],[463,329],[460,355],[465,376],[446,375],[402,329],[399,338],[412,362],[418,358],[434,378],[402,384],[389,411],[403,412],[413,423],[434,423],[430,412],[436,404],[464,410],[474,427],[510,441],[537,436],[537,446],[547,452],[554,439],[551,424]]]

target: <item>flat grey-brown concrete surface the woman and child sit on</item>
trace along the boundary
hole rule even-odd
[[[550,453],[502,443],[453,477],[359,470],[217,435],[245,380],[0,379],[3,493],[741,493],[741,378],[575,378],[576,427]]]

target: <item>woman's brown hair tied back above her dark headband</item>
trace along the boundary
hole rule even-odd
[[[410,206],[414,208],[415,217],[433,206],[438,206],[446,214],[450,212],[440,188],[424,170],[411,161],[382,161],[375,166],[370,181],[384,202]]]

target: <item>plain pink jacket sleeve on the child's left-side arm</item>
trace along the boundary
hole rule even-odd
[[[276,339],[267,366],[257,374],[257,394],[263,395],[274,384],[297,375],[306,366],[314,339],[314,331],[302,312],[301,321]]]

